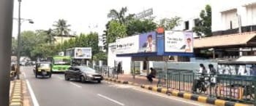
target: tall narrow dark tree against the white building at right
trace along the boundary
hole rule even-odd
[[[198,36],[211,36],[211,6],[206,5],[205,10],[200,12],[200,20],[195,23],[193,31],[197,33]]]

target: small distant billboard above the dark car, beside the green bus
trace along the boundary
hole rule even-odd
[[[91,59],[91,47],[76,47],[75,59]]]

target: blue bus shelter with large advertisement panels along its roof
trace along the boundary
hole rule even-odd
[[[133,76],[135,61],[146,62],[146,74],[149,73],[149,61],[165,61],[170,56],[193,57],[192,32],[166,30],[152,31],[135,36],[120,38],[115,43],[116,57],[132,57]],[[113,45],[112,45],[113,46]]]

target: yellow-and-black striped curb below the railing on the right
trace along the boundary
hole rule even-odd
[[[184,92],[180,92],[180,91],[170,91],[167,89],[162,89],[162,88],[158,88],[158,87],[152,87],[152,86],[146,86],[146,85],[141,85],[140,86],[143,89],[148,89],[150,91],[157,91],[159,93],[162,94],[171,94],[173,96],[176,97],[181,97],[184,99],[190,99],[193,101],[197,101],[197,102],[203,102],[203,103],[208,103],[211,105],[217,105],[217,106],[247,106],[241,103],[236,103],[236,102],[229,102],[229,101],[225,101],[222,99],[215,99],[215,98],[211,98],[211,97],[203,97],[203,96],[199,96],[196,94],[189,94],[189,93],[184,93]]]

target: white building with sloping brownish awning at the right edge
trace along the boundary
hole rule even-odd
[[[256,0],[211,1],[213,36],[195,39],[195,56],[236,60],[256,52]]]

